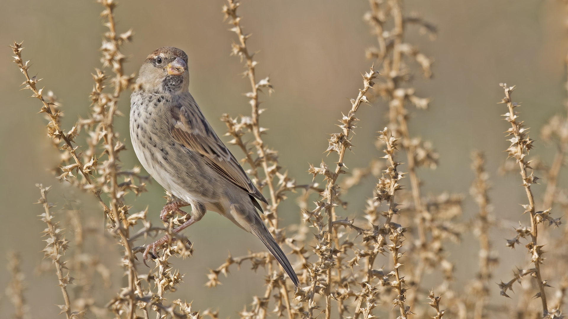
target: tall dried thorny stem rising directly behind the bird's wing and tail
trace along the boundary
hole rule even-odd
[[[250,92],[245,94],[249,98],[249,104],[251,106],[250,116],[240,116],[240,120],[233,119],[227,114],[224,114],[221,118],[225,122],[228,128],[227,136],[232,136],[233,139],[229,141],[229,144],[237,145],[244,153],[244,161],[250,166],[250,170],[247,171],[252,175],[252,181],[261,192],[265,187],[268,187],[269,191],[269,204],[265,207],[265,214],[262,215],[262,219],[268,224],[268,230],[279,244],[282,244],[286,238],[283,229],[278,226],[278,205],[282,200],[286,199],[286,193],[289,191],[294,191],[296,188],[296,183],[293,178],[288,177],[287,173],[281,173],[281,166],[278,162],[278,153],[268,148],[264,140],[262,140],[262,135],[268,130],[260,126],[260,115],[263,109],[260,108],[259,93],[262,90],[268,91],[271,94],[274,89],[270,83],[270,77],[260,79],[257,81],[255,66],[258,64],[254,61],[254,53],[250,53],[247,46],[247,39],[250,34],[245,34],[243,32],[243,27],[241,27],[241,17],[237,15],[237,8],[240,3],[237,0],[227,0],[227,4],[223,5],[222,12],[224,14],[224,20],[233,27],[230,31],[233,31],[237,35],[238,42],[233,42],[231,47],[231,55],[239,56],[241,62],[245,61],[245,72],[244,77],[247,77],[250,82]],[[253,136],[253,145],[249,146],[248,142],[243,140],[243,136],[246,133],[250,133]],[[253,157],[252,149],[256,149],[256,158]],[[259,173],[262,171],[262,175]],[[278,182],[275,183],[275,179],[278,178]],[[253,262],[253,268],[260,266],[260,263],[256,263],[255,258],[237,257],[233,259],[231,255],[227,259],[225,265],[220,266],[217,270],[211,271],[208,275],[210,281],[207,286],[214,287],[219,283],[218,274],[219,272],[224,272],[227,275],[228,266],[237,261],[250,260]],[[272,256],[268,255],[266,258],[262,259],[263,266],[268,267],[268,279],[266,280],[266,291],[264,296],[253,297],[253,304],[249,311],[243,310],[240,316],[246,317],[261,317],[264,318],[268,313],[268,305],[271,293],[276,289],[277,293],[274,295],[275,303],[277,304],[277,312],[282,314],[283,308],[287,310],[289,318],[293,318],[293,307],[290,303],[289,291],[290,289],[286,286],[285,280],[283,280],[283,273],[279,266],[273,265]],[[239,265],[240,265],[239,262]],[[278,269],[278,271],[276,271]]]

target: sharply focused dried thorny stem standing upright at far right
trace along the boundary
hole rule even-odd
[[[508,108],[508,113],[506,114],[506,120],[511,123],[511,129],[508,130],[509,135],[512,135],[511,146],[508,149],[509,156],[515,157],[519,163],[521,178],[523,179],[523,186],[525,192],[527,193],[527,198],[529,201],[528,207],[525,207],[531,216],[531,243],[527,245],[529,249],[529,254],[532,255],[532,262],[534,263],[534,276],[536,277],[536,284],[538,290],[540,291],[540,299],[542,302],[542,313],[543,316],[548,314],[548,306],[546,304],[546,292],[544,291],[544,283],[542,282],[540,264],[542,263],[542,250],[537,244],[538,238],[538,228],[536,220],[536,210],[534,205],[534,197],[531,191],[531,183],[536,182],[536,177],[534,175],[527,175],[527,168],[530,168],[528,162],[525,161],[524,157],[526,153],[532,148],[532,140],[526,137],[525,129],[523,128],[522,122],[516,121],[517,115],[514,110],[515,107],[519,106],[517,103],[513,103],[511,99],[511,93],[515,89],[514,86],[507,87],[506,84],[501,84],[505,91],[505,98],[501,103],[506,103]]]

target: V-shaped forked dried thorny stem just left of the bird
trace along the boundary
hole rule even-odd
[[[63,140],[64,145],[61,149],[68,150],[75,161],[72,165],[62,167],[64,174],[61,175],[60,178],[66,179],[66,175],[73,176],[71,173],[74,169],[80,171],[85,178],[84,183],[86,184],[86,186],[81,184],[81,188],[88,189],[93,192],[98,202],[101,203],[105,213],[110,217],[110,220],[115,223],[115,232],[118,233],[120,242],[125,246],[125,255],[127,256],[126,264],[128,265],[128,282],[130,291],[128,297],[130,300],[128,318],[134,318],[135,300],[133,299],[133,292],[135,291],[134,282],[136,280],[136,270],[134,268],[135,258],[132,253],[130,242],[128,241],[128,224],[124,220],[124,213],[126,213],[127,207],[122,203],[124,188],[127,188],[129,185],[124,187],[118,186],[117,178],[119,170],[117,166],[117,153],[124,149],[124,145],[118,142],[118,134],[114,131],[113,126],[114,116],[118,111],[116,109],[118,97],[122,91],[127,89],[133,78],[133,75],[127,76],[122,73],[122,61],[124,60],[124,56],[118,51],[118,47],[121,43],[130,39],[132,32],[129,31],[120,36],[116,36],[114,30],[114,19],[112,18],[112,10],[115,7],[115,3],[111,0],[100,0],[99,2],[105,7],[102,16],[108,19],[108,22],[105,25],[110,30],[110,32],[105,34],[107,39],[110,41],[103,41],[101,51],[103,51],[104,56],[102,60],[103,65],[112,65],[112,69],[116,74],[116,77],[112,79],[112,83],[115,85],[115,91],[112,95],[103,93],[102,90],[105,87],[104,81],[106,79],[106,75],[100,70],[97,70],[97,74],[93,75],[93,78],[95,79],[95,87],[93,93],[91,93],[91,99],[93,99],[93,103],[95,104],[94,117],[91,120],[78,123],[70,130],[69,133],[63,133],[60,128],[59,111],[54,112],[51,108],[51,106],[55,106],[55,104],[47,102],[43,98],[43,95],[41,94],[43,89],[36,89],[36,83],[39,80],[35,77],[30,78],[28,75],[28,62],[24,63],[21,57],[21,51],[23,49],[21,43],[14,43],[11,47],[16,54],[14,62],[19,66],[20,71],[26,77],[26,82],[24,82],[24,84],[26,84],[26,89],[32,90],[34,92],[33,96],[41,100],[43,107],[40,112],[45,112],[51,120],[48,125],[48,135],[52,138],[59,138],[60,140]],[[99,123],[98,131],[100,134],[98,136],[101,136],[103,139],[103,154],[108,156],[101,169],[103,172],[102,177],[97,179],[96,184],[94,183],[94,180],[90,178],[90,175],[97,166],[95,154],[91,154],[91,161],[84,165],[80,157],[77,155],[78,146],[73,146],[72,144],[74,142],[74,138],[78,134],[78,127],[80,127],[80,125],[89,126],[94,123]],[[97,142],[94,142],[94,144],[96,143]],[[91,150],[94,148],[94,144],[91,145]],[[110,195],[110,207],[108,207],[101,198],[101,193],[103,191]],[[123,221],[122,225],[120,220]]]

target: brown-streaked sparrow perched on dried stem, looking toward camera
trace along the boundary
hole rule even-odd
[[[191,205],[190,219],[173,230],[181,232],[207,211],[218,212],[258,237],[298,287],[290,261],[258,214],[262,207],[257,201],[268,202],[189,93],[187,54],[174,47],[150,53],[130,101],[130,137],[136,156],[166,191],[181,199],[164,207],[162,220],[172,211],[185,214],[179,207]],[[144,263],[150,249],[155,253],[168,241],[166,235],[148,245]]]

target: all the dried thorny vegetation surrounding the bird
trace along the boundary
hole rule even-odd
[[[183,284],[183,274],[170,257],[191,257],[193,251],[187,238],[172,231],[186,217],[173,214],[169,223],[152,225],[147,220],[147,211],[131,211],[124,198],[127,192],[144,196],[148,182],[138,167],[121,167],[119,156],[126,149],[114,127],[115,117],[121,115],[117,101],[128,99],[127,92],[135,76],[124,74],[126,57],[120,51],[131,40],[132,31],[119,33],[115,29],[112,0],[98,2],[103,6],[102,17],[108,27],[101,47],[102,66],[93,74],[90,115],[79,119],[72,128],[61,127],[61,110],[55,95],[45,93],[37,86],[40,79],[30,77],[30,63],[22,57],[22,44],[14,43],[11,47],[14,62],[26,77],[23,84],[41,101],[40,112],[48,120],[48,136],[61,152],[61,165],[54,169],[57,179],[93,194],[100,203],[100,210],[106,216],[106,231],[123,247],[120,261],[123,269],[108,269],[99,261],[96,250],[85,249],[88,242],[109,239],[103,238],[108,236],[102,236],[102,231],[91,231],[93,226],[87,227],[85,216],[73,208],[72,200],[64,206],[69,212],[65,219],[52,209],[54,205],[48,199],[50,188],[38,185],[39,203],[43,205],[40,216],[46,227],[43,252],[53,265],[41,268],[55,270],[62,293],[59,308],[67,318],[218,318],[216,309],[199,311],[196,310],[199,305],[172,300],[169,295]],[[554,116],[542,128],[542,140],[556,141],[558,152],[550,167],[538,167],[546,175],[545,185],[538,185],[534,175],[537,167],[529,159],[535,142],[515,111],[519,104],[512,102],[513,87],[502,85],[506,95],[502,103],[507,107],[504,116],[511,124],[507,130],[511,142],[507,152],[513,165],[507,167],[520,171],[519,183],[527,194],[527,202],[520,203],[524,215],[519,209],[520,225],[515,229],[515,237],[506,242],[492,242],[491,228],[498,223],[491,214],[490,181],[481,152],[473,153],[475,180],[471,196],[479,205],[479,212],[471,221],[460,219],[465,195],[443,192],[425,196],[428,183],[419,177],[419,167],[435,169],[438,156],[431,142],[410,133],[411,115],[424,112],[429,103],[428,98],[415,95],[412,80],[419,73],[424,78],[431,77],[432,60],[408,43],[405,36],[407,32],[419,31],[433,40],[436,27],[419,16],[408,15],[403,0],[369,3],[370,10],[364,19],[377,39],[377,46],[366,51],[370,70],[362,74],[360,90],[353,92],[350,106],[339,118],[338,131],[329,137],[327,149],[322,140],[321,150],[328,154],[325,161],[306,167],[314,179],[304,185],[296,184],[282,169],[277,150],[263,140],[266,129],[261,126],[263,110],[259,94],[272,91],[270,78],[256,74],[257,62],[252,53],[255,48],[248,46],[250,34],[243,33],[243,20],[237,14],[240,3],[228,0],[223,6],[225,22],[235,32],[232,54],[244,64],[244,76],[250,82],[246,96],[250,99],[251,113],[237,117],[224,114],[222,121],[227,124],[226,135],[232,138],[229,144],[242,151],[236,156],[243,158],[247,173],[268,198],[262,218],[289,254],[300,287],[295,289],[286,280],[285,272],[265,251],[240,257],[229,255],[223,265],[210,271],[207,286],[214,289],[220,284],[219,275],[226,276],[235,265],[250,263],[254,269],[264,268],[265,293],[250,296],[250,304],[239,312],[241,318],[562,318],[568,287],[568,275],[562,271],[568,269],[568,232],[557,226],[561,225],[561,211],[568,208],[568,193],[558,184],[558,175],[568,152],[568,117]],[[353,133],[360,107],[373,107],[376,112],[387,114],[388,125],[378,132],[376,143],[384,155],[373,159],[369,167],[348,169],[346,163],[356,141]],[[324,133],[327,132],[322,132],[322,138]],[[356,188],[364,178],[376,179],[373,190]],[[533,194],[532,187],[546,188],[542,199]],[[348,204],[341,195],[351,188],[368,195],[366,208],[357,216],[340,216],[338,209]],[[299,192],[302,223],[282,228],[279,205],[289,200],[290,192]],[[74,237],[66,238],[64,228],[73,229]],[[459,242],[465,231],[473,232],[479,240],[479,271],[470,274],[466,287],[458,287],[454,284],[454,264],[446,246],[449,242]],[[161,237],[164,233],[173,240],[153,259],[155,265],[147,274],[147,268],[139,261],[145,247],[137,245],[148,236]],[[543,251],[543,237],[554,254]],[[527,264],[518,268],[510,265],[511,280],[492,278],[498,262],[492,250],[495,245],[527,247]],[[523,254],[523,250],[517,253]],[[179,262],[181,259],[176,259]],[[12,255],[13,280],[7,291],[15,306],[15,317],[28,318],[30,306],[24,298],[24,276],[18,263],[17,255]],[[110,274],[122,271],[126,274],[123,286],[110,299],[102,303],[97,300],[94,295],[100,287],[95,276],[102,278],[108,287]],[[424,284],[427,274],[437,274],[433,289]],[[83,280],[76,283],[74,277]],[[502,280],[499,283],[502,296],[490,295],[490,286],[499,280]],[[523,289],[517,289],[521,295],[519,307],[512,309],[503,300],[509,297],[516,283],[522,284]],[[540,305],[536,307],[532,299],[540,300]],[[56,309],[45,311],[55,313]]]

